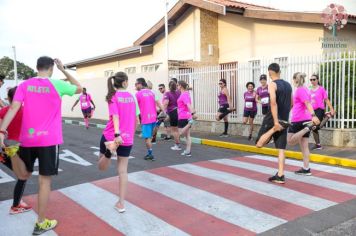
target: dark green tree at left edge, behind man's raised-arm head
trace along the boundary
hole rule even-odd
[[[0,75],[4,75],[6,79],[14,79],[14,60],[9,57],[0,59]],[[17,61],[17,77],[20,80],[36,76],[37,73],[29,66]]]

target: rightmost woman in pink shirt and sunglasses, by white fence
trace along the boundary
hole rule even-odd
[[[319,118],[320,125],[313,129],[315,146],[313,149],[322,149],[319,138],[319,129],[323,128],[330,117],[334,116],[335,111],[328,98],[328,92],[320,85],[319,76],[312,75],[310,78],[312,87],[310,89],[311,103],[315,115]],[[325,113],[325,103],[328,105],[330,112]]]

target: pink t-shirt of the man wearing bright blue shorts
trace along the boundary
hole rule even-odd
[[[152,124],[157,120],[156,96],[149,89],[141,89],[136,93],[137,103],[141,112],[141,124]]]

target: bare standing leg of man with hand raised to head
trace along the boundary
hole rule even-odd
[[[38,183],[38,222],[42,222],[45,219],[49,194],[51,193],[51,176],[39,175]]]

